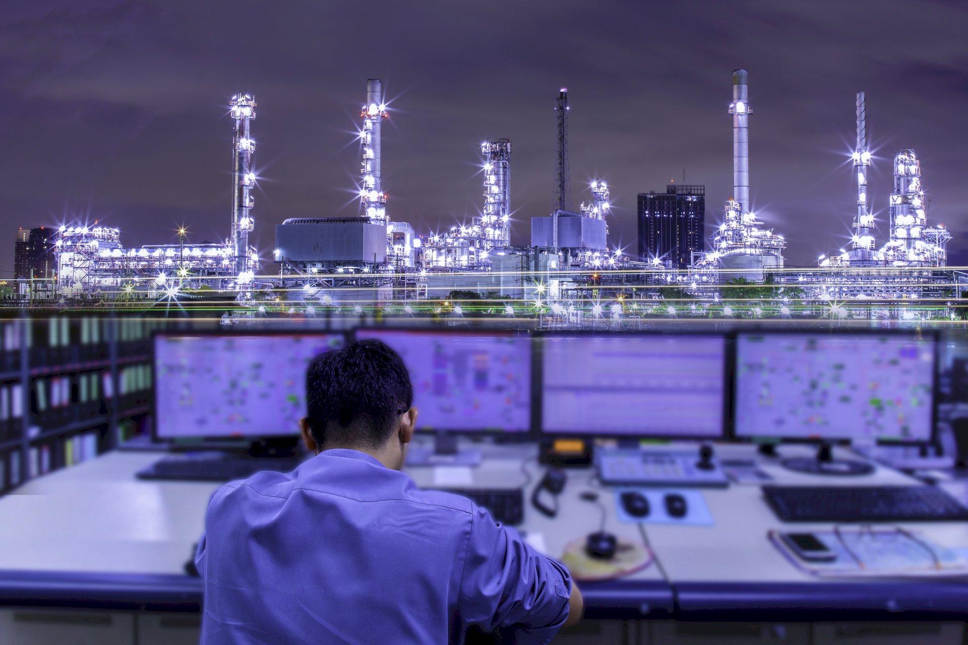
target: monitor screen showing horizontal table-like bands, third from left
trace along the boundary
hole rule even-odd
[[[543,432],[723,434],[723,337],[542,337],[541,350]]]

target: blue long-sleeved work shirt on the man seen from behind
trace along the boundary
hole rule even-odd
[[[203,645],[461,642],[469,625],[546,643],[571,593],[491,513],[351,450],[219,488],[196,563]]]

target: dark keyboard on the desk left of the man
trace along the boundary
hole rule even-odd
[[[260,470],[287,473],[299,459],[257,458],[209,454],[177,454],[163,457],[137,472],[139,480],[175,480],[183,482],[228,482],[244,480]]]

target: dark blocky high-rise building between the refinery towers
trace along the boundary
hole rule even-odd
[[[639,256],[685,269],[703,251],[706,187],[669,184],[665,192],[639,193]]]

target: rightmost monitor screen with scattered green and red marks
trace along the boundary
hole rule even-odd
[[[933,338],[741,334],[736,358],[738,436],[931,438]]]

